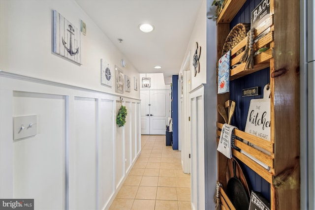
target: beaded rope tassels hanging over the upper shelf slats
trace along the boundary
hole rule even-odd
[[[252,28],[247,32],[246,48],[244,55],[240,59],[241,62],[246,62],[244,70],[251,70],[254,67],[254,31]]]

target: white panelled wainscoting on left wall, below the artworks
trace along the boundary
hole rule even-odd
[[[35,210],[108,209],[141,149],[140,100],[0,72],[0,198]],[[13,117],[36,115],[37,134],[13,140]]]

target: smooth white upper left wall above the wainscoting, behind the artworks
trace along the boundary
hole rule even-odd
[[[52,53],[53,10],[78,28],[80,20],[86,23],[87,35],[81,34],[81,66]],[[121,67],[125,56],[75,1],[1,0],[0,27],[0,70],[115,93],[115,78],[112,88],[100,85],[100,59],[106,60],[115,72],[115,65]],[[139,73],[131,61],[126,61],[128,66],[121,69],[131,78],[132,88],[125,95],[139,98],[139,91],[133,90],[133,77],[140,81]]]

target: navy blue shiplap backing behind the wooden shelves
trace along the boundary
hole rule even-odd
[[[260,3],[260,0],[247,0],[235,18],[230,23],[230,30],[238,23],[251,23],[252,10]],[[240,130],[245,130],[247,114],[250,106],[250,100],[254,98],[262,98],[264,86],[270,82],[269,68],[257,71],[245,77],[230,82],[230,99],[236,102],[235,114],[231,124]],[[242,90],[254,86],[260,87],[261,95],[242,97]],[[270,201],[270,184],[257,175],[252,169],[245,164],[240,163],[246,173],[247,180],[253,191],[258,191]]]

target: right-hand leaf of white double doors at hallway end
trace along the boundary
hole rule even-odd
[[[150,135],[165,135],[169,103],[169,90],[150,90]]]

